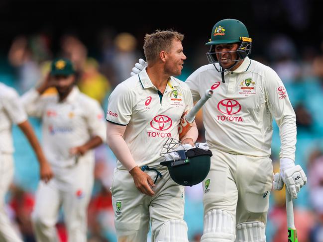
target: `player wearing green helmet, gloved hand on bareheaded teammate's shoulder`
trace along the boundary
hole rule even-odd
[[[213,153],[203,182],[204,233],[201,242],[264,242],[273,179],[272,120],[281,138],[280,174],[292,197],[306,183],[295,165],[296,117],[283,82],[271,68],[250,60],[252,40],[236,19],[217,22],[207,43],[210,64],[186,81],[194,101],[214,90],[203,106],[206,140]],[[145,66],[140,60],[133,69]],[[132,73],[132,75],[134,74]]]

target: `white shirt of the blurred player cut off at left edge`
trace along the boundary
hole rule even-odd
[[[13,153],[12,124],[27,120],[18,93],[0,82],[0,152]]]

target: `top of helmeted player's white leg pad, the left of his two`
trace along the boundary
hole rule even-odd
[[[234,242],[235,222],[223,210],[211,210],[204,217],[201,242]]]

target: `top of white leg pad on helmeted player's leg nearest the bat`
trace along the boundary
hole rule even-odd
[[[235,242],[266,242],[265,224],[260,221],[238,224]]]

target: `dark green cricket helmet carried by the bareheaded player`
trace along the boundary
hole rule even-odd
[[[168,138],[160,155],[166,160],[160,164],[167,166],[171,178],[182,186],[193,186],[202,182],[210,171],[210,150],[187,150],[181,141],[173,138]]]

